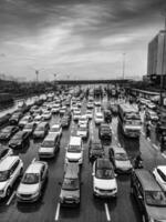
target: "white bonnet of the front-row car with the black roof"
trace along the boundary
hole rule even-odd
[[[94,178],[94,186],[103,190],[112,190],[117,186],[115,179],[102,180]]]

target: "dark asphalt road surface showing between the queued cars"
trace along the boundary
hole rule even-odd
[[[104,98],[103,105],[105,107],[107,99]],[[86,102],[84,101],[82,107],[82,113],[85,112]],[[52,125],[60,119],[59,115],[52,117],[50,124]],[[112,144],[122,144],[129,157],[135,157],[138,151],[142,152],[144,160],[144,167],[152,170],[157,164],[165,164],[166,160],[157,150],[153,147],[149,140],[146,140],[144,133],[139,140],[133,140],[124,138],[117,124],[116,117],[113,118],[113,141]],[[54,160],[49,160],[49,181],[41,196],[37,203],[22,204],[17,203],[15,188],[10,199],[0,203],[0,222],[141,222],[141,214],[137,209],[137,204],[129,193],[129,175],[117,176],[118,193],[116,200],[101,200],[93,196],[92,191],[92,164],[87,158],[87,143],[84,142],[84,162],[82,167],[82,196],[81,205],[77,209],[61,208],[59,203],[60,185],[59,182],[63,178],[64,155],[65,147],[70,140],[70,135],[74,134],[76,124],[71,122],[69,130],[63,131],[61,139],[61,149],[58,157]],[[94,120],[90,123],[90,138],[97,138],[97,127],[94,124]],[[24,170],[30,162],[35,158],[38,160],[38,148],[40,141],[33,142],[31,140],[30,145],[20,151],[19,155],[24,163]],[[107,155],[108,147],[105,147],[105,154]]]

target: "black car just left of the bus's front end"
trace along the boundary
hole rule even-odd
[[[112,140],[112,130],[108,124],[102,123],[98,129],[98,138],[101,140],[111,141]]]

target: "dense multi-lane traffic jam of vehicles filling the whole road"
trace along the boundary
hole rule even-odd
[[[0,129],[0,221],[166,222],[156,107],[86,85],[18,108]]]

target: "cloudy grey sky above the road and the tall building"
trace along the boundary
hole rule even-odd
[[[51,80],[142,77],[166,0],[0,0],[0,73]]]

